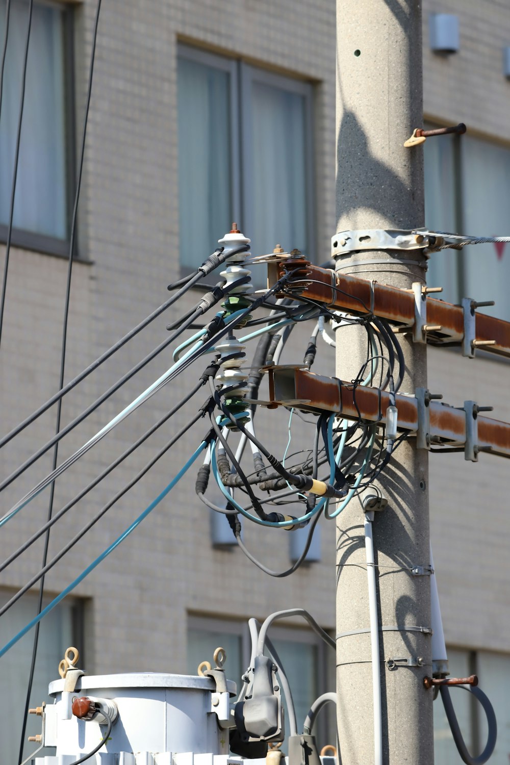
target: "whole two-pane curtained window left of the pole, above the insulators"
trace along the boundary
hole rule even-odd
[[[312,86],[180,45],[180,265],[239,222],[252,252],[314,255]]]

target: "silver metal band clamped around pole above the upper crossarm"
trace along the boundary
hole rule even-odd
[[[339,231],[331,237],[333,258],[360,250],[427,249],[429,237],[420,229],[363,229]]]

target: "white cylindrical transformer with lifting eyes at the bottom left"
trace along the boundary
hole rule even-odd
[[[72,693],[64,691],[64,683],[63,679],[50,683],[54,705],[48,704],[45,711],[44,742],[57,747],[55,756],[36,757],[36,765],[73,762],[101,741],[104,725],[70,712],[73,699],[83,696],[112,700],[119,709],[102,749],[115,756],[114,762],[131,762],[125,755],[141,752],[229,754],[228,731],[219,728],[214,712],[217,694],[212,678],[158,672],[83,675]],[[227,681],[227,688],[235,694],[234,682]]]

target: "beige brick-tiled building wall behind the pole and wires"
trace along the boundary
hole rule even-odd
[[[92,0],[76,4],[78,125],[83,116],[95,8]],[[452,60],[440,60],[424,44],[427,115],[452,123],[463,119],[493,138],[510,139],[508,83],[501,76],[501,61],[496,56],[500,46],[494,37],[497,30],[498,40],[505,34],[510,38],[503,4],[456,0],[439,5],[428,0],[424,24],[428,13],[438,9],[460,15],[462,50]],[[80,254],[86,262],[76,262],[73,267],[66,379],[161,304],[167,297],[167,283],[179,276],[179,243],[184,233],[179,232],[178,221],[178,40],[314,84],[317,249],[320,259],[327,258],[334,226],[334,35],[333,0],[303,3],[298,8],[290,0],[104,2],[80,204]],[[0,255],[2,252],[0,249]],[[66,272],[63,259],[11,251],[0,368],[2,430],[14,427],[57,387]],[[193,293],[187,304],[196,297]],[[178,309],[160,317],[67,396],[64,422],[161,342],[166,336],[164,325],[184,307],[180,302]],[[297,338],[292,340],[284,361],[300,361],[302,347]],[[333,355],[327,359],[324,353],[323,358],[323,371],[333,373]],[[462,404],[464,399],[477,399],[494,405],[495,417],[510,418],[506,363],[468,361],[449,350],[430,351],[429,358],[430,389],[443,392],[445,401]],[[161,354],[112,396],[65,440],[60,457],[71,454],[161,374],[169,359],[168,353]],[[55,507],[62,506],[113,455],[161,417],[171,402],[184,395],[190,379],[193,377],[178,377],[68,471],[58,482]],[[197,397],[197,402],[202,399]],[[174,428],[187,422],[192,411],[193,406],[187,406],[179,412],[171,426],[164,426],[163,433],[151,438],[59,522],[52,532],[50,554],[148,461]],[[263,415],[262,419],[268,424],[261,435],[271,442],[278,439],[283,448],[286,413]],[[14,470],[52,435],[53,428],[54,414],[50,412],[13,441],[5,450],[2,474]],[[59,592],[128,526],[168,483],[205,430],[203,423],[193,428],[89,532],[47,577],[47,591]],[[309,438],[298,420],[293,435],[296,441]],[[22,496],[49,468],[48,456],[5,492],[3,507]],[[432,539],[447,640],[460,646],[508,651],[510,611],[503,586],[508,555],[502,544],[502,530],[508,526],[504,513],[508,468],[485,456],[477,465],[464,463],[459,455],[431,455],[430,468]],[[272,610],[299,605],[311,610],[323,627],[333,628],[332,524],[321,521],[320,563],[291,578],[270,579],[245,562],[240,551],[212,548],[208,513],[194,495],[194,474],[191,470],[190,477],[178,484],[132,537],[76,588],[78,596],[88,599],[89,672],[183,671],[189,611],[264,617]],[[47,494],[22,510],[2,534],[2,555],[26,539],[46,512]],[[250,526],[246,542],[274,568],[286,567],[286,532]],[[41,545],[35,545],[33,553],[4,572],[2,586],[18,587],[37,571],[40,557]]]

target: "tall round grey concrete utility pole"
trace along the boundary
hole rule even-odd
[[[337,0],[336,230],[411,229],[424,224],[421,147],[404,148],[423,123],[421,4],[418,0]],[[414,252],[356,252],[337,259],[343,273],[400,288],[424,282]],[[395,262],[398,259],[399,262]],[[375,260],[385,261],[374,263]],[[391,262],[386,262],[391,261]],[[399,336],[406,376],[401,392],[427,387],[426,346]],[[366,358],[365,330],[337,332],[337,369],[353,379]],[[369,604],[359,500],[337,520],[336,679],[342,765],[434,762],[427,451],[413,439],[395,451],[380,487],[388,506],[372,524],[379,612],[382,760],[374,749]],[[389,629],[385,629],[389,628]],[[345,633],[355,633],[346,635]],[[423,666],[388,669],[388,659],[422,657]]]

